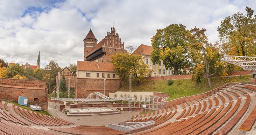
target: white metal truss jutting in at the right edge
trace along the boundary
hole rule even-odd
[[[256,57],[224,55],[221,61],[237,65],[243,70],[256,70]]]

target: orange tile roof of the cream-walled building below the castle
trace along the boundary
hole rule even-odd
[[[95,63],[89,61],[77,61],[77,70],[115,72],[111,63]]]

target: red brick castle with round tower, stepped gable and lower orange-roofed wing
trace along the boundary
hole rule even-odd
[[[75,97],[87,97],[92,92],[101,92],[108,96],[121,85],[121,80],[115,74],[111,62],[111,55],[127,53],[124,42],[119,38],[114,27],[107,32],[99,43],[92,29],[89,30],[84,41],[84,61],[77,61],[75,76]]]

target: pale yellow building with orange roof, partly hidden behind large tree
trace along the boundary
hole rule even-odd
[[[143,62],[149,66],[149,69],[152,70],[151,76],[170,76],[174,75],[174,70],[168,70],[165,68],[163,60],[160,63],[153,63],[151,53],[153,51],[152,46],[147,46],[141,44],[132,54],[142,55]],[[186,69],[186,72],[189,72]]]

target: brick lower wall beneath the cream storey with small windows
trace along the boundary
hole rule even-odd
[[[100,92],[104,94],[104,80],[103,79],[85,79],[76,78],[75,81],[75,97],[87,97],[92,92]],[[106,80],[106,95],[109,92],[114,92],[121,86],[121,80]]]

